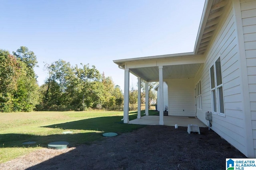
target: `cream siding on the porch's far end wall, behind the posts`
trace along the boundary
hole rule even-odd
[[[194,80],[192,78],[168,80],[168,94],[168,115],[196,116]]]

